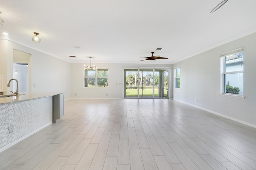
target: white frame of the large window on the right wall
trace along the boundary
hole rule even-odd
[[[226,57],[230,56],[230,55],[235,55],[235,54],[239,54],[239,53],[243,53],[243,63],[244,63],[244,50],[243,47],[240,47],[238,49],[234,49],[231,51],[227,51],[225,53],[221,53],[220,54],[220,94],[222,96],[229,96],[229,97],[236,97],[236,98],[244,98],[244,92],[243,94],[233,94],[233,93],[227,93],[226,92],[226,76],[227,75],[231,75],[231,74],[239,74],[239,73],[243,73],[244,74],[244,64],[243,64],[243,70],[237,70],[237,71],[226,71]],[[244,80],[242,82],[243,84],[243,91],[244,91]]]

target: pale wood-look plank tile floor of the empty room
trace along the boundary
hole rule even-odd
[[[254,170],[256,129],[174,100],[71,99],[0,170]]]

